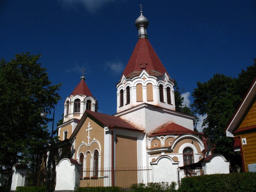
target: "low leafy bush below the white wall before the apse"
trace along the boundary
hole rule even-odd
[[[161,183],[139,183],[139,184],[132,184],[131,188],[133,189],[134,192],[175,192],[176,191],[176,183],[172,181],[171,184],[168,182],[161,182]]]

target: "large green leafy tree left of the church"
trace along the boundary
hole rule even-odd
[[[10,62],[0,61],[0,166],[26,163],[33,170],[36,152],[48,146],[47,123],[52,103],[60,96],[61,84],[51,85],[45,68],[37,63],[41,55],[17,54]]]

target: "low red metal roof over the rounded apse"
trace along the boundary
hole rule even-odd
[[[170,135],[170,134],[195,134],[195,135],[203,135],[204,133],[201,132],[195,132],[190,129],[187,129],[181,125],[178,125],[176,123],[170,123],[166,126],[164,126],[162,129],[158,130],[155,133],[152,133],[152,135],[149,135],[148,137],[156,136],[156,135]]]

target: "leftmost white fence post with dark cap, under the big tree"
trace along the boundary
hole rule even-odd
[[[24,186],[25,180],[22,182],[22,174],[26,174],[28,171],[28,165],[14,164],[12,166],[12,185],[11,191],[15,191],[16,187]]]

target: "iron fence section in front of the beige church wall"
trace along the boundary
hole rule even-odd
[[[129,189],[135,183],[152,182],[151,167],[115,167],[85,169],[79,172],[79,187],[103,187],[116,186]],[[113,179],[112,179],[113,178]]]

